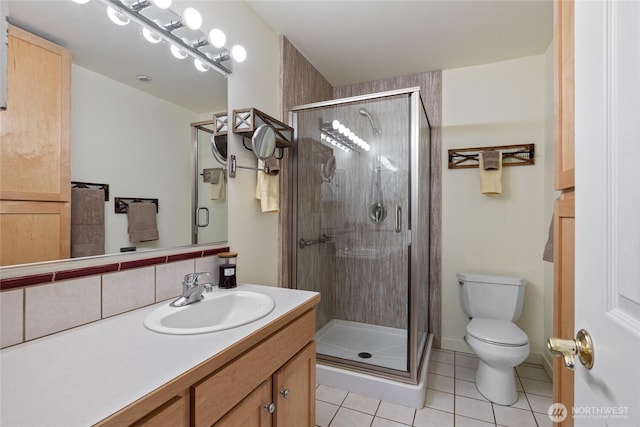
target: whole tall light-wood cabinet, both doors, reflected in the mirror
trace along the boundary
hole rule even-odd
[[[0,265],[68,258],[71,53],[9,26],[0,113]]]

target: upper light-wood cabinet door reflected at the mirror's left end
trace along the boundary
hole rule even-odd
[[[69,202],[71,53],[9,26],[0,199]]]

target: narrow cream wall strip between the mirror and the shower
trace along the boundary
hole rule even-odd
[[[279,37],[244,2],[220,2],[229,25],[229,40],[242,40],[247,60],[234,64],[229,76],[228,111],[255,107],[279,117]],[[226,28],[225,28],[226,31]],[[233,32],[237,32],[234,34]],[[229,154],[238,164],[255,166],[256,157],[242,146],[242,138],[229,134]],[[255,199],[256,172],[238,170],[228,187],[229,246],[238,252],[238,281],[278,285],[278,214],[262,213]]]

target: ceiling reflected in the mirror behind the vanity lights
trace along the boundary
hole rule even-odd
[[[105,6],[98,1],[87,4],[71,0],[1,1],[8,5],[10,23],[70,49],[74,64],[192,111],[205,113],[226,109],[225,76],[216,71],[199,72],[192,63],[186,63],[192,62],[189,58],[174,59],[165,43],[152,45],[146,42],[139,27],[133,23],[123,27],[114,25],[107,18]],[[201,1],[174,0],[174,3],[177,4],[175,10],[197,6],[206,17],[200,7]],[[168,12],[155,9],[155,13]],[[161,15],[152,17],[161,18]],[[169,21],[170,17],[162,16],[161,22]],[[180,29],[176,34],[186,37],[190,35],[189,31]],[[229,65],[228,62],[224,64]],[[139,74],[150,76],[152,81],[139,81]]]

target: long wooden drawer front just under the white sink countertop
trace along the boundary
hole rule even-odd
[[[193,421],[210,426],[313,340],[315,313],[303,314],[193,387]]]

